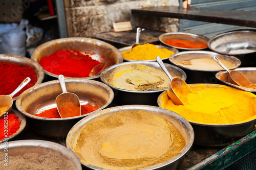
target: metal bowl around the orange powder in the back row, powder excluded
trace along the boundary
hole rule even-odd
[[[168,39],[181,39],[181,40],[189,40],[189,41],[201,42],[201,43],[207,44],[208,40],[209,40],[209,38],[207,38],[205,36],[193,34],[193,33],[185,33],[185,32],[163,33],[158,37],[158,39],[161,43],[163,43],[166,46],[174,47],[174,48],[177,48],[178,50],[183,50],[183,51],[205,50],[208,47],[205,47],[205,48],[182,48],[182,47],[178,47],[178,46],[169,45],[169,44],[165,43],[164,41],[166,41]]]

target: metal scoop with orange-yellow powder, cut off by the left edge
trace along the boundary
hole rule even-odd
[[[6,111],[2,111],[0,112],[0,118],[2,118],[4,116],[4,113],[10,113],[11,109],[12,109],[12,104],[13,104],[13,99],[12,97],[19,92],[21,89],[23,89],[23,87],[25,87],[29,82],[30,82],[30,78],[27,77],[22,83],[19,84],[19,86],[9,95],[0,95],[0,105],[7,105],[9,106],[9,108]]]

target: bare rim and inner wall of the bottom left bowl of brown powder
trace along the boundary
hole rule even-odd
[[[0,152],[8,156],[22,156],[25,153],[48,155],[50,152],[63,162],[71,161],[73,169],[81,170],[79,158],[72,151],[61,144],[45,140],[17,140],[0,144]],[[4,152],[8,148],[8,152]]]

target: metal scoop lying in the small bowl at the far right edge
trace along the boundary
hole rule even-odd
[[[232,84],[239,85],[242,87],[246,87],[252,84],[247,79],[247,77],[245,77],[241,72],[236,70],[229,70],[227,67],[225,67],[225,65],[223,65],[222,62],[216,56],[214,56],[214,60],[229,73],[229,76],[233,81]]]

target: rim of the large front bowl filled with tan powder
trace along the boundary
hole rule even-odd
[[[144,109],[143,109],[144,108]],[[147,109],[145,109],[147,108]],[[185,154],[191,149],[192,145],[193,145],[193,142],[194,142],[194,139],[195,139],[195,134],[194,134],[194,129],[193,127],[190,125],[190,123],[184,118],[182,117],[181,115],[173,112],[173,111],[170,111],[170,110],[167,110],[167,109],[164,109],[164,108],[160,108],[160,107],[157,107],[157,106],[147,106],[147,105],[124,105],[124,106],[116,106],[116,107],[111,107],[111,108],[106,108],[106,109],[103,109],[103,110],[99,110],[98,112],[90,115],[90,116],[87,116],[87,117],[84,117],[82,118],[81,120],[79,120],[79,122],[77,122],[72,128],[71,130],[69,131],[68,135],[67,135],[67,138],[66,138],[66,145],[67,145],[67,148],[70,149],[71,151],[75,152],[73,150],[73,145],[72,145],[72,138],[73,138],[73,134],[81,127],[84,126],[84,124],[86,124],[87,122],[93,120],[93,119],[97,119],[98,116],[100,115],[105,115],[105,114],[111,114],[114,112],[119,112],[119,111],[122,111],[124,109],[132,109],[133,111],[135,110],[154,110],[154,111],[162,111],[162,113],[164,114],[168,114],[168,115],[171,115],[172,117],[175,117],[176,120],[178,119],[182,124],[183,126],[185,127],[186,131],[187,131],[187,138],[188,138],[188,141],[186,142],[184,148],[181,150],[180,153],[178,153],[176,156],[170,158],[169,160],[167,161],[164,161],[162,163],[159,163],[157,165],[154,165],[154,166],[150,166],[150,167],[147,167],[147,168],[143,168],[143,169],[155,169],[155,168],[160,168],[160,167],[163,167],[163,166],[166,166],[168,164],[171,164],[175,161],[177,161],[178,159],[182,158],[183,156],[185,156]],[[114,114],[113,113],[113,114]],[[79,156],[78,156],[79,157]],[[90,167],[90,168],[93,168],[93,169],[103,169],[103,168],[100,168],[98,166],[94,166],[94,165],[91,165],[88,166],[86,164],[84,164],[84,160],[80,159],[80,162],[81,164],[83,164],[84,166],[87,166],[87,167]]]

